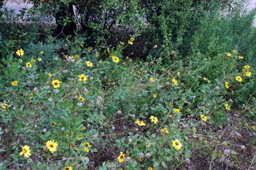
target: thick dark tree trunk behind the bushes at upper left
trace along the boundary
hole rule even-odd
[[[68,6],[65,6],[64,4],[59,8],[59,11],[57,12],[55,19],[56,19],[56,25],[57,25],[57,34],[58,38],[64,38],[68,35],[74,35],[76,31],[76,23],[73,20],[73,17],[75,16],[74,10],[73,10],[73,4],[69,3]],[[67,25],[64,26],[64,19],[66,17],[69,17],[69,20],[71,22],[67,23]]]

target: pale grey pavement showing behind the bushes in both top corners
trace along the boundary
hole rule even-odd
[[[6,2],[5,7],[7,9],[15,9],[17,14],[20,14],[20,9],[22,8],[32,8],[33,4],[32,3],[26,3],[24,0],[4,0]],[[256,8],[256,0],[250,0],[248,4],[245,4],[248,10],[251,10],[253,8]],[[74,10],[76,10],[74,8]],[[256,18],[254,19],[253,25],[256,26]]]

